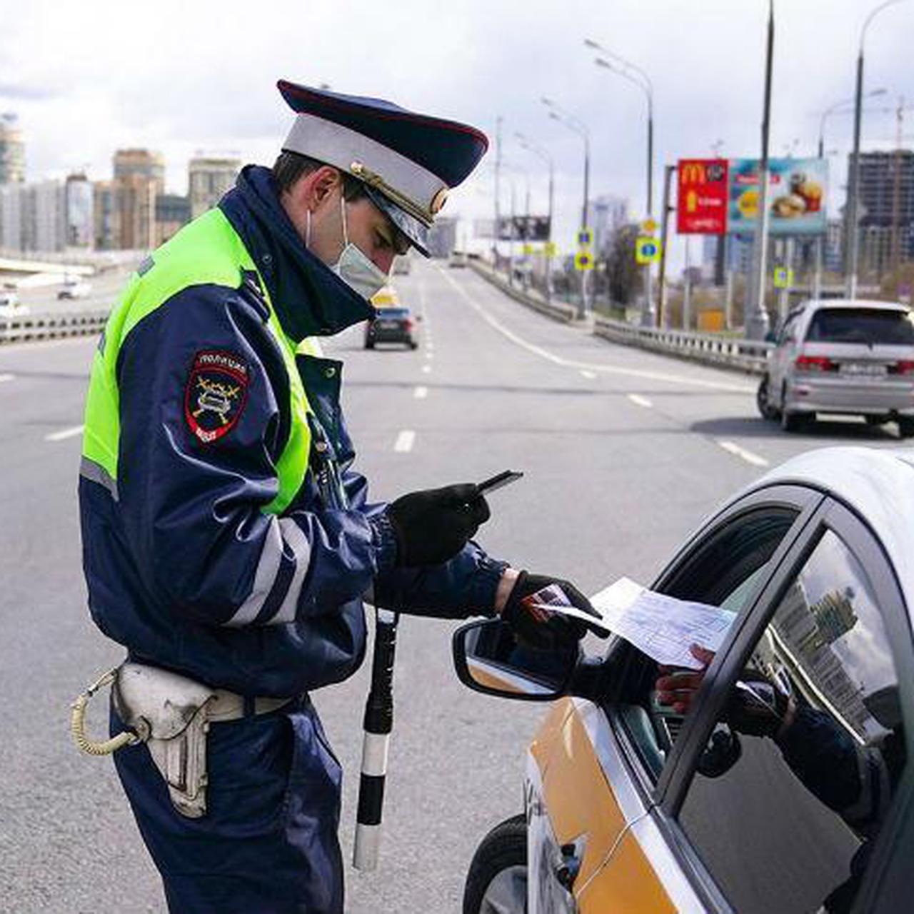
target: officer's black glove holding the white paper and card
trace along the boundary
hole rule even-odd
[[[505,609],[502,611],[502,619],[511,626],[519,642],[541,651],[552,651],[579,642],[589,627],[600,637],[608,634],[596,625],[588,626],[584,622],[558,611],[550,612],[538,609],[534,603],[546,603],[548,596],[539,597],[537,600],[530,598],[550,585],[561,588],[572,606],[589,612],[597,620],[600,619],[597,611],[590,605],[590,600],[574,584],[560,578],[521,571],[505,603]]]

